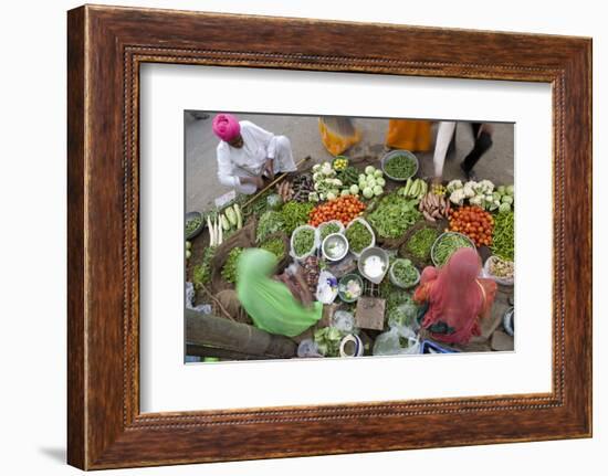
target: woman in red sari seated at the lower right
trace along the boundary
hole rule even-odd
[[[430,337],[448,343],[468,343],[481,335],[479,319],[492,309],[496,283],[479,278],[481,260],[471,248],[458,250],[440,269],[428,266],[413,294],[428,303],[421,327]]]

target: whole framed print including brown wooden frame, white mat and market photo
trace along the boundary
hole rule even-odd
[[[70,464],[591,435],[589,39],[67,19]]]

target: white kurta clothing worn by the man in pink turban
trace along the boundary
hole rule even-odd
[[[268,159],[273,159],[274,172],[293,172],[293,160],[290,139],[275,136],[249,120],[241,120],[243,147],[231,147],[221,140],[218,144],[218,179],[227,187],[233,187],[241,193],[254,193],[256,188],[251,183],[241,183],[240,177],[260,177]]]

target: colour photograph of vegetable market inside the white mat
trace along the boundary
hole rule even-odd
[[[514,124],[186,110],[185,361],[514,351]]]

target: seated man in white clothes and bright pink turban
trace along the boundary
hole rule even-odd
[[[249,120],[239,121],[232,114],[213,118],[218,144],[218,179],[241,193],[254,193],[263,187],[263,176],[296,170],[290,139],[275,136]]]

